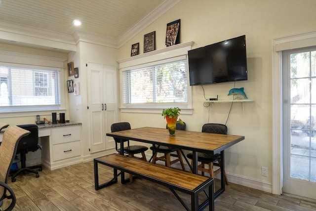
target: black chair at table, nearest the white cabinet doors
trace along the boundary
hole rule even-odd
[[[127,130],[127,129],[131,129],[130,124],[127,122],[122,122],[122,123],[114,123],[111,125],[111,131],[112,132],[117,132],[117,131],[121,131],[121,130]],[[117,150],[118,154],[120,154],[121,149],[118,148],[118,144],[120,143],[120,139],[119,138],[114,138],[115,140],[115,149]],[[145,151],[148,150],[148,147],[145,146],[141,146],[141,145],[129,145],[129,140],[127,139],[123,139],[123,142],[127,142],[127,146],[124,147],[123,151],[124,154],[127,154],[128,157],[131,158],[138,158],[135,157],[135,154],[142,154],[142,160],[147,161],[146,159],[146,155],[145,155]],[[129,181],[132,182],[133,181],[133,176],[130,174],[129,175]]]

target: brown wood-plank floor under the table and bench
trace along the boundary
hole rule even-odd
[[[100,182],[112,178],[113,170],[99,165]],[[10,180],[10,178],[9,178]],[[216,183],[219,183],[218,181]],[[93,162],[62,169],[43,169],[8,182],[17,198],[15,211],[182,211],[171,191],[144,179],[120,182],[94,190]],[[230,183],[216,199],[215,211],[315,211],[316,204],[286,196],[272,195]],[[190,201],[180,194],[184,201]],[[204,198],[201,195],[200,198]],[[7,202],[2,206],[6,205]],[[205,210],[208,210],[205,209]]]

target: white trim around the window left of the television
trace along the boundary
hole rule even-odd
[[[118,60],[119,69],[119,82],[120,90],[122,90],[122,71],[129,67],[140,66],[147,63],[153,63],[160,60],[166,60],[173,57],[188,55],[188,50],[191,50],[193,42],[186,42],[181,44],[176,44],[173,46],[166,47],[160,50],[154,50],[144,54],[136,55],[127,59]],[[188,61],[188,56],[187,56]],[[189,66],[187,67],[187,84],[188,84],[188,104],[186,107],[181,107],[181,114],[193,114],[192,108],[192,87],[189,83]],[[120,93],[120,111],[121,112],[131,112],[131,113],[161,113],[162,105],[153,105],[152,108],[147,107],[124,107],[122,105],[122,93]],[[172,106],[172,104],[163,104],[163,108]]]

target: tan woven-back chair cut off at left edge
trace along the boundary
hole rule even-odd
[[[0,123],[1,129],[7,126],[7,124],[3,125],[3,123]],[[29,133],[29,131],[16,126],[7,128],[3,133],[3,138],[0,145],[0,207],[2,207],[4,199],[11,200],[10,205],[5,209],[5,211],[11,211],[16,204],[15,194],[13,190],[7,185],[7,180],[19,140]],[[7,192],[9,195],[7,195]]]

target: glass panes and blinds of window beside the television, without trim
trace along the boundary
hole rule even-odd
[[[122,71],[123,104],[187,103],[187,60]]]

